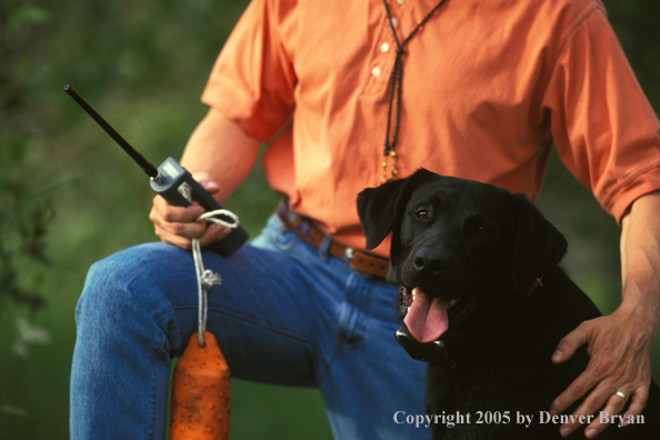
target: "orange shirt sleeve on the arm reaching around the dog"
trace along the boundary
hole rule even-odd
[[[559,157],[617,221],[660,189],[660,122],[602,9],[567,32],[542,108]]]

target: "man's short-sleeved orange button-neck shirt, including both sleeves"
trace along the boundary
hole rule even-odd
[[[391,0],[399,40],[436,3]],[[266,174],[298,213],[354,248],[357,194],[382,176],[394,49],[381,0],[253,0],[202,97],[270,142]],[[660,123],[603,6],[448,0],[406,46],[399,176],[424,167],[534,200],[552,144],[618,220],[660,189]]]

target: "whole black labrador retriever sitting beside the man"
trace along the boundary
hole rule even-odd
[[[433,439],[560,439],[579,402],[550,404],[587,368],[581,348],[550,358],[560,339],[600,316],[557,264],[563,236],[523,194],[427,170],[362,191],[367,249],[392,232],[390,257],[403,323],[399,342],[429,362],[427,413]],[[623,412],[621,412],[622,414]],[[660,389],[642,417],[599,439],[660,439]],[[583,438],[589,423],[571,437]]]

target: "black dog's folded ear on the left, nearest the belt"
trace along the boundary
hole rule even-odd
[[[358,214],[367,237],[367,250],[376,248],[401,221],[410,192],[422,181],[437,177],[423,168],[401,180],[367,188],[358,194]]]

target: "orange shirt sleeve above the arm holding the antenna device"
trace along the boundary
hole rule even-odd
[[[268,142],[293,111],[297,83],[287,41],[294,1],[253,0],[213,66],[202,102]]]

